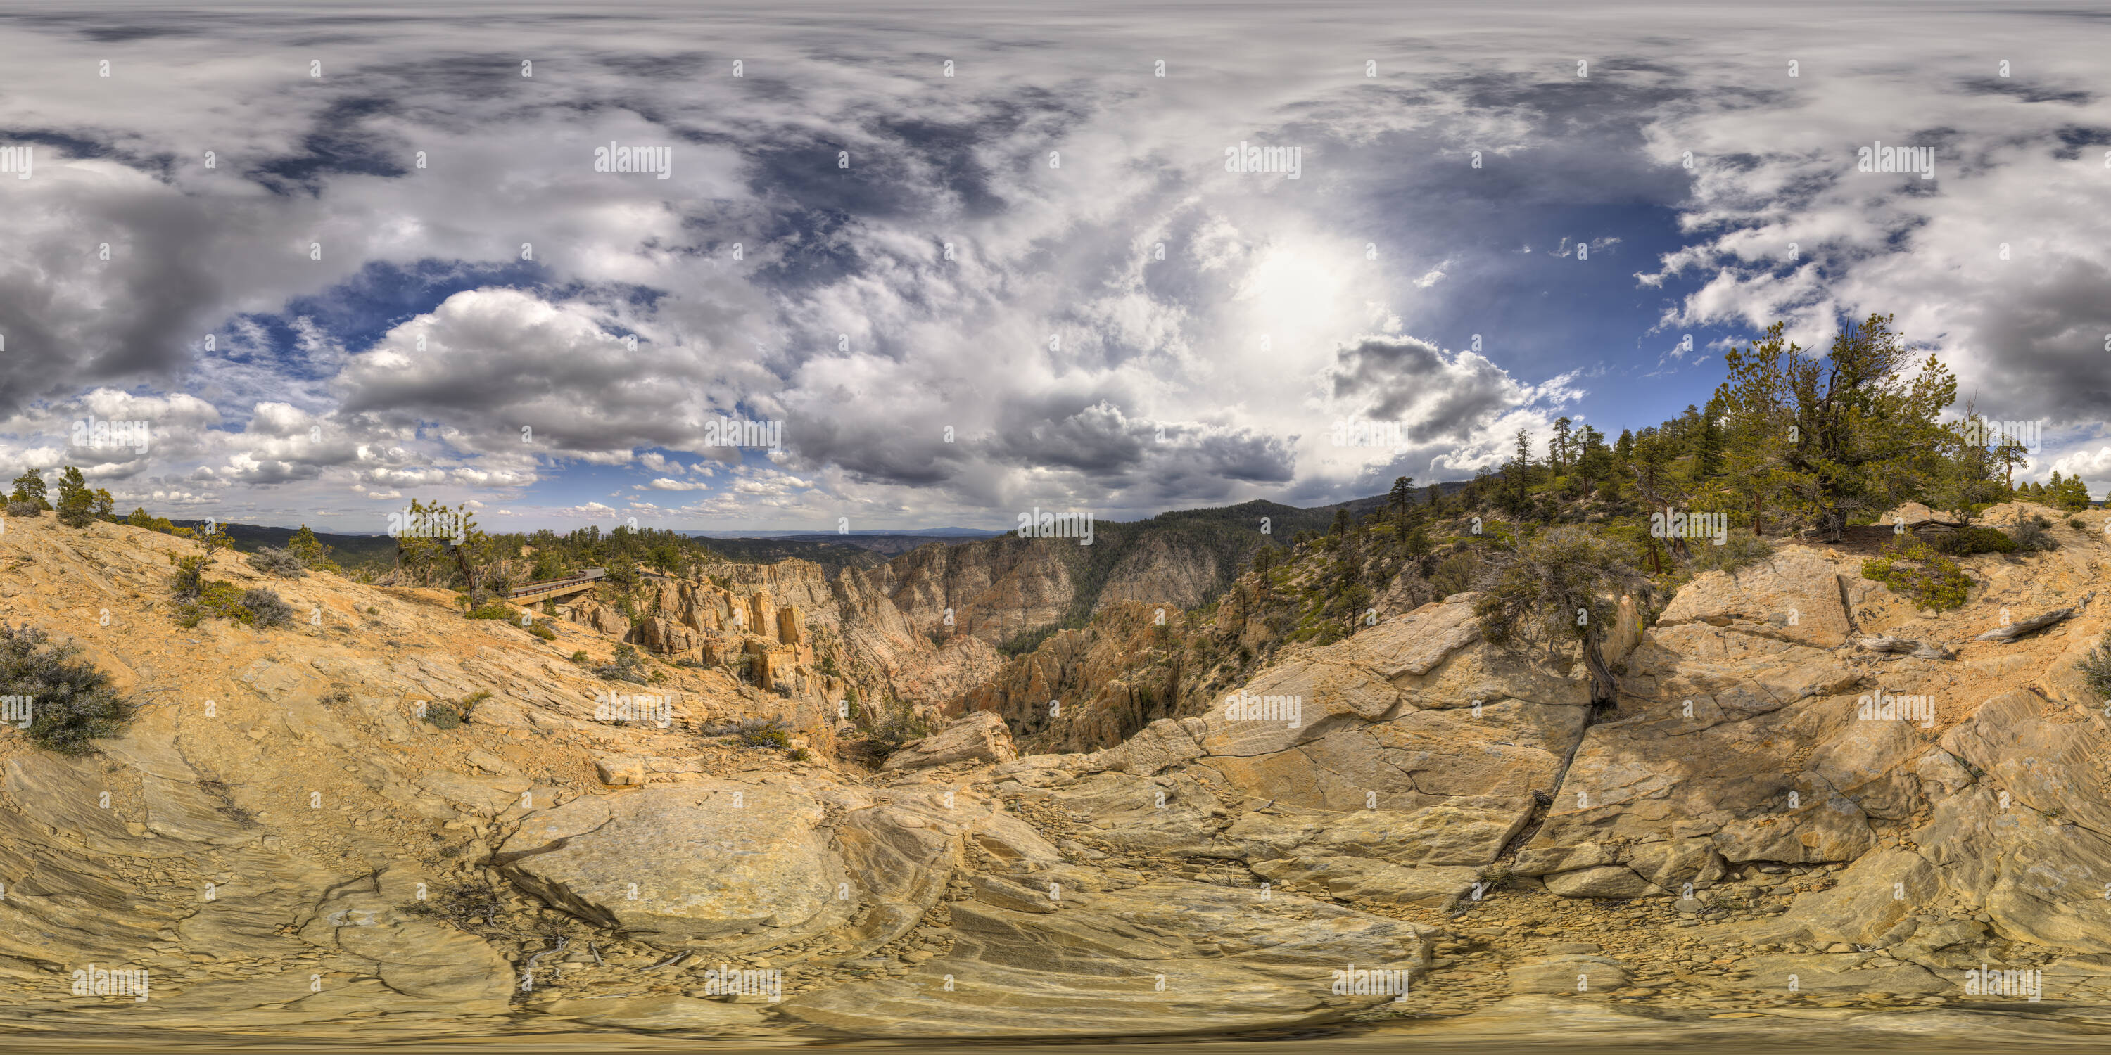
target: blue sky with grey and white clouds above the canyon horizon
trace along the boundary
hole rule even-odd
[[[0,471],[336,532],[1319,504],[1879,310],[2103,494],[2107,46],[2056,2],[0,8]]]

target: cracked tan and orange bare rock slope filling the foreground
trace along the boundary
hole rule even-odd
[[[190,542],[11,519],[0,612],[74,637],[150,707],[87,760],[0,732],[0,1023],[386,1040],[1364,1019],[1440,1042],[1697,1036],[1710,1015],[1910,1034],[2001,1009],[1974,1036],[2010,1040],[2024,1013],[2094,1034],[2111,730],[2073,671],[2105,631],[2084,601],[2105,515],[2084,519],[2050,555],[1965,559],[1982,584],[1940,616],[1813,546],[1706,574],[1615,650],[1611,713],[1581,671],[1482,641],[1459,595],[1283,650],[1100,751],[1020,757],[977,713],[878,772],[832,757],[834,715],[802,694],[659,663],[657,686],[591,677],[564,656],[612,641],[585,625],[540,641],[441,593],[308,576],[268,582],[312,616],[293,627],[182,629],[167,557]],[[211,576],[264,584],[226,555]],[[701,650],[735,639],[701,627],[735,601],[844,641],[893,606],[800,568],[743,576],[659,587],[661,618]],[[2003,608],[2075,603],[1974,639]],[[460,728],[416,717],[479,692]],[[608,692],[667,692],[669,724],[597,720]],[[1879,694],[1927,696],[1908,707],[1925,726],[1860,717]],[[703,728],[764,715],[811,760]],[[74,996],[89,964],[148,968],[152,992]],[[1978,964],[2041,971],[2041,1000],[1967,992]]]

